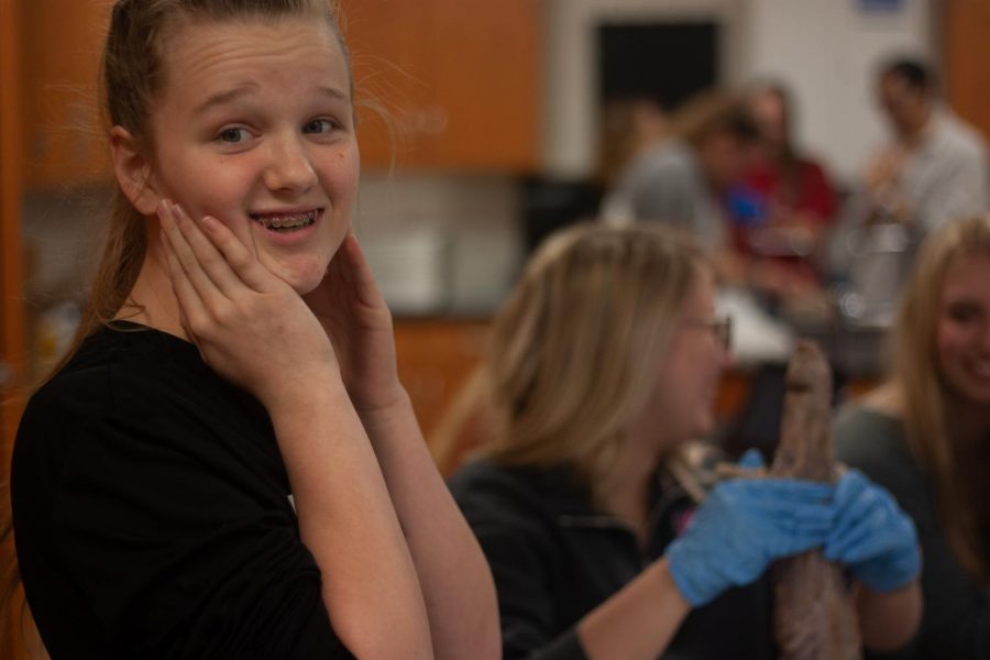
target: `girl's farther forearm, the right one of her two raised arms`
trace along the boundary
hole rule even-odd
[[[362,416],[426,600],[437,658],[498,658],[498,602],[485,557],[438,472],[405,392]]]

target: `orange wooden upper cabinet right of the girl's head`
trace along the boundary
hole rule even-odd
[[[404,169],[536,167],[538,0],[345,0],[343,9],[366,167],[388,168],[393,156]]]

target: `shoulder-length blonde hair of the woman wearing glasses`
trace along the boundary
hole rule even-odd
[[[594,494],[647,404],[701,268],[662,226],[579,224],[552,235],[497,314],[484,363],[503,464],[566,464]]]

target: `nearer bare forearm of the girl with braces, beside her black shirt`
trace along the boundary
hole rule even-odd
[[[359,658],[430,658],[409,549],[343,385],[288,394],[268,411],[337,635]]]

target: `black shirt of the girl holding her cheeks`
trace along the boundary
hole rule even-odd
[[[186,341],[124,322],[88,338],[31,398],[11,488],[56,660],[352,657],[267,414]]]

